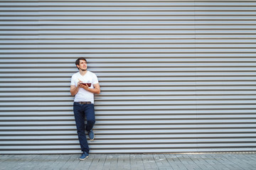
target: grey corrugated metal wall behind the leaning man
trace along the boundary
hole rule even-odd
[[[86,57],[92,153],[255,151],[256,1],[1,1],[0,154],[80,153],[70,77]]]

